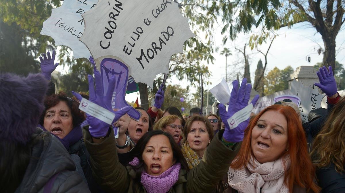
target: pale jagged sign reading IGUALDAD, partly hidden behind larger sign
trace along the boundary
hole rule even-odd
[[[94,8],[97,1],[63,1],[61,7],[51,10],[51,16],[43,22],[40,34],[51,36],[55,45],[70,47],[74,58],[89,58],[89,50],[79,41],[85,27],[81,14]]]

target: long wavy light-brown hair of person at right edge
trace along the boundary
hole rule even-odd
[[[313,163],[317,168],[335,165],[338,173],[344,173],[345,164],[345,97],[341,98],[328,115],[320,133],[313,141]]]

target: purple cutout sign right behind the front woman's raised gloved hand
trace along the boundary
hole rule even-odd
[[[103,81],[103,93],[106,94],[109,87],[109,80],[111,77],[116,78],[115,89],[111,98],[112,109],[121,109],[125,106],[130,106],[125,100],[125,92],[128,82],[128,68],[125,64],[112,58],[105,58],[101,61],[101,77]],[[131,118],[138,121],[141,113],[131,107],[127,113]]]

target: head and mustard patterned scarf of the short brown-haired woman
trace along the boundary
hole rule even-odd
[[[200,163],[207,146],[213,139],[213,126],[207,118],[194,115],[188,118],[183,129],[182,153],[189,169]]]

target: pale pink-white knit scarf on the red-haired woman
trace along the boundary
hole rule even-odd
[[[289,156],[266,163],[260,163],[251,157],[243,169],[229,168],[228,181],[231,188],[238,192],[288,193],[289,189],[284,184],[284,173],[289,168]]]

